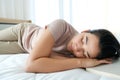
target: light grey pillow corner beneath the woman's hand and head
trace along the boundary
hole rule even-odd
[[[86,68],[86,70],[95,74],[105,75],[120,79],[120,58],[117,61],[114,60],[112,64]]]

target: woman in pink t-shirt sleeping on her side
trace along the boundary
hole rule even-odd
[[[105,29],[78,33],[58,19],[45,26],[22,23],[0,31],[0,53],[28,52],[27,72],[55,72],[111,63],[120,45]]]

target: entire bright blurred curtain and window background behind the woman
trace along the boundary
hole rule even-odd
[[[120,0],[0,0],[0,17],[32,20],[42,27],[64,19],[78,31],[120,32]]]

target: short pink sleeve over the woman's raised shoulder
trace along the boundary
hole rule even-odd
[[[61,38],[66,32],[67,28],[70,26],[70,24],[68,24],[65,20],[62,19],[55,20],[47,25],[55,41]]]

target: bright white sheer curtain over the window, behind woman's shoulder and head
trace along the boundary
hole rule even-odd
[[[44,26],[61,18],[78,31],[105,28],[119,32],[120,0],[35,0],[35,22]]]

